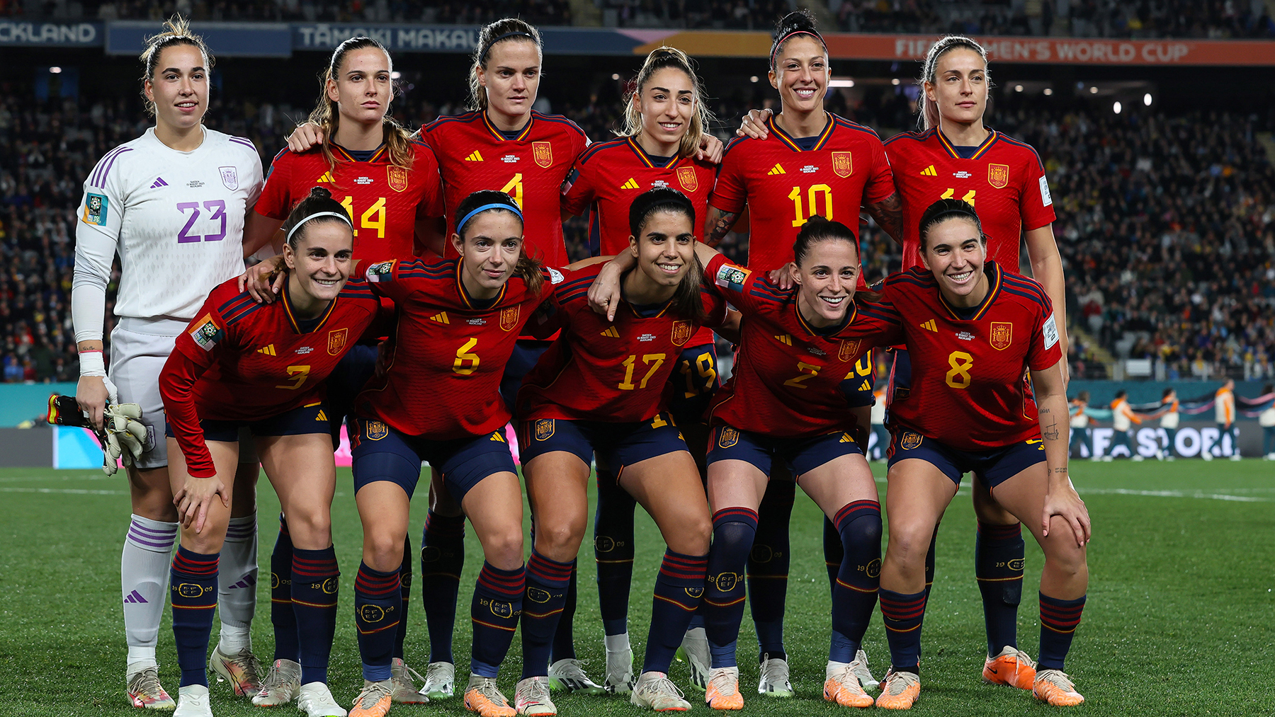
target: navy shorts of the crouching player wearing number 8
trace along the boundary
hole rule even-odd
[[[1043,464],[1044,442],[1031,438],[988,451],[959,451],[915,430],[896,428],[887,457],[887,470],[899,461],[919,458],[943,471],[956,485],[960,485],[963,475],[974,471],[984,485],[996,488],[1024,470]]]

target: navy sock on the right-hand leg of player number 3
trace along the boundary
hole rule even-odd
[[[292,549],[292,610],[297,619],[301,684],[328,683],[328,656],[337,634],[340,569],[332,545]]]

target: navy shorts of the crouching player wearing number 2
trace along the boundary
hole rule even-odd
[[[806,471],[841,456],[863,455],[854,437],[845,430],[817,436],[776,437],[718,425],[709,436],[708,465],[718,461],[745,461],[770,475],[775,458],[782,458],[794,479]]]

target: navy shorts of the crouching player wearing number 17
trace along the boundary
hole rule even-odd
[[[575,453],[585,465],[597,455],[598,465],[618,480],[625,466],[686,451],[686,441],[667,411],[634,423],[538,418],[519,425],[518,450],[523,465],[553,451]]]

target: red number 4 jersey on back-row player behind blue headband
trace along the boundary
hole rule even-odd
[[[486,112],[439,117],[421,130],[439,155],[448,236],[456,231],[456,206],[479,190],[507,192],[523,208],[527,252],[546,266],[566,264],[562,239],[562,182],[589,145],[584,130],[558,115],[532,112],[515,139],[491,124]],[[446,242],[448,259],[456,250]]]

